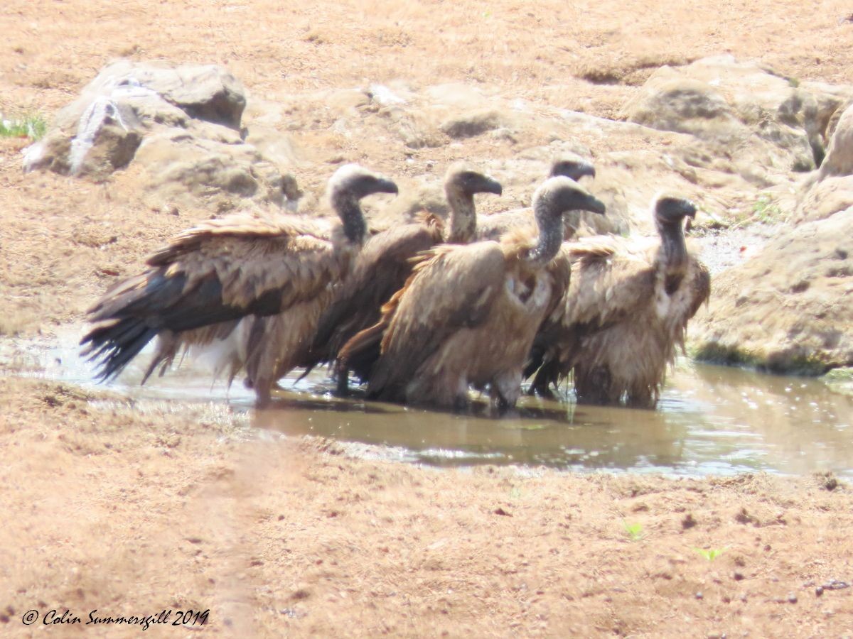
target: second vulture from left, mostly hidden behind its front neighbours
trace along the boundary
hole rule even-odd
[[[502,187],[473,166],[457,162],[444,176],[444,193],[450,204],[448,233],[444,232],[438,217],[426,215],[420,222],[393,227],[368,239],[351,275],[339,287],[334,302],[320,318],[309,361],[305,363],[308,370],[317,364],[334,361],[339,349],[352,336],[379,321],[380,308],[403,288],[412,272],[411,259],[418,253],[442,242],[470,242],[477,224],[474,195],[501,195]],[[359,377],[366,377],[365,371],[356,372]],[[346,394],[349,371],[339,367],[336,376],[338,394]]]

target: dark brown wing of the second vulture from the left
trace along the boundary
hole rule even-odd
[[[423,223],[393,227],[368,239],[352,273],[320,318],[310,366],[334,360],[347,340],[379,321],[382,305],[412,273],[412,258],[438,244],[441,233],[438,217],[427,216]]]

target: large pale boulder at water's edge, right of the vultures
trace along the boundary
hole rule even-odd
[[[853,208],[780,233],[711,289],[690,329],[699,359],[812,375],[853,366]]]

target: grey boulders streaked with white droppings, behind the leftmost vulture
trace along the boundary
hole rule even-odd
[[[293,177],[243,140],[245,107],[241,84],[219,66],[117,60],[56,115],[24,168],[103,181],[133,164],[153,199],[293,204]]]

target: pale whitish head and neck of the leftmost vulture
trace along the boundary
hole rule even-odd
[[[398,193],[397,185],[384,176],[358,164],[344,164],[328,181],[328,199],[344,223],[344,233],[351,242],[361,244],[367,233],[359,200],[374,193]]]

